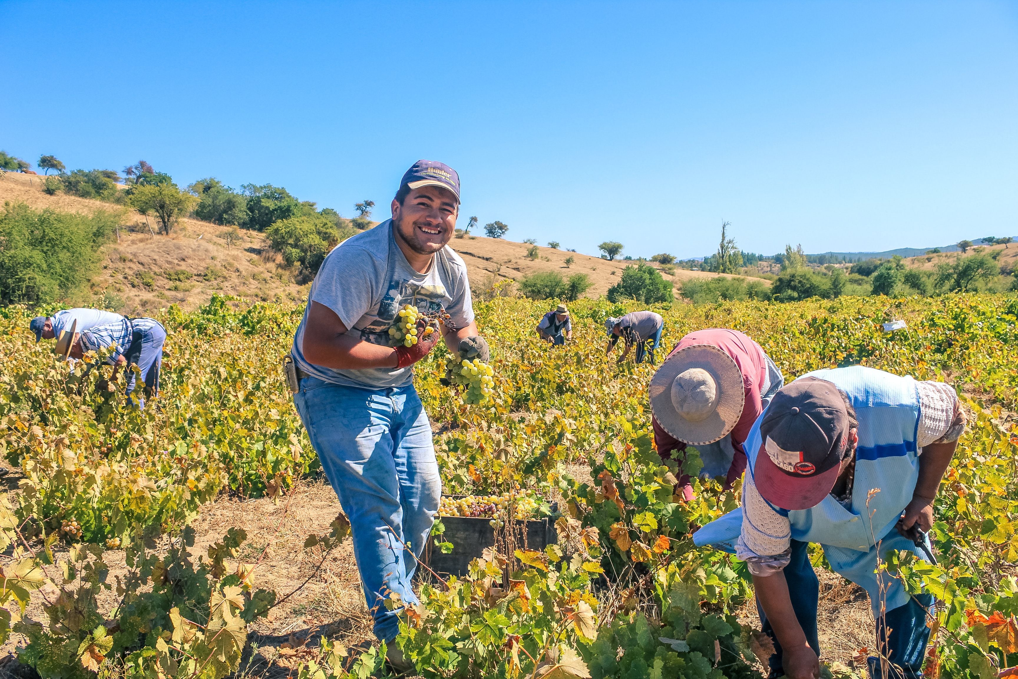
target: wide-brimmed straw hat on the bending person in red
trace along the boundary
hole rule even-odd
[[[710,344],[677,351],[651,380],[651,410],[666,432],[693,446],[731,432],[745,403],[742,373],[727,353]]]

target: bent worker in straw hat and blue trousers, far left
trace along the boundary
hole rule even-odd
[[[68,332],[71,330],[68,329]],[[93,326],[82,333],[74,333],[70,345],[70,357],[81,358],[86,351],[98,351],[113,347],[107,362],[114,366],[113,375],[124,369],[127,371],[127,389],[134,391],[136,376],[131,370],[137,365],[145,382],[145,394],[137,397],[139,407],[145,407],[145,399],[159,395],[159,371],[163,365],[163,344],[166,343],[166,329],[155,319],[124,319],[101,326]],[[58,347],[59,349],[59,347]]]

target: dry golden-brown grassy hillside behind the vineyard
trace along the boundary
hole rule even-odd
[[[262,301],[299,301],[307,295],[307,285],[294,280],[294,273],[269,250],[261,233],[241,230],[240,242],[228,248],[216,235],[224,227],[183,219],[171,235],[154,235],[150,230],[150,226],[155,229],[154,220],[134,211],[64,193],[47,195],[42,186],[40,176],[7,173],[0,178],[0,202],[23,202],[37,210],[123,211],[118,240],[104,248],[103,273],[93,280],[92,292],[99,299],[105,294],[108,304],[125,314],[170,303],[193,308],[213,293]],[[450,245],[462,256],[471,287],[478,292],[507,279],[519,281],[539,271],[557,271],[565,277],[586,274],[592,285],[585,296],[599,297],[619,280],[626,266],[634,264],[550,247],[539,247],[538,259],[530,260],[526,257],[530,245],[484,236],[454,238]],[[569,257],[574,262],[566,267]],[[663,274],[673,282],[676,294],[683,281],[723,275],[681,269]]]

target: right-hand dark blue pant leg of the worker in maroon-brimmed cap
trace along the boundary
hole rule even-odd
[[[891,666],[889,679],[915,679],[922,676],[929,628],[926,613],[931,612],[934,596],[914,595],[907,604],[885,613],[876,621],[876,649],[887,654]],[[870,658],[869,676],[881,679],[881,660]]]

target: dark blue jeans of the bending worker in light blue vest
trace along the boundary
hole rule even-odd
[[[785,580],[788,582],[788,593],[792,599],[792,610],[795,619],[806,636],[809,647],[821,655],[821,642],[816,637],[816,607],[819,597],[819,581],[813,566],[809,563],[808,543],[792,541],[792,560],[785,566]],[[883,650],[894,665],[889,668],[889,679],[914,679],[922,676],[922,659],[926,653],[926,641],[929,640],[929,628],[926,627],[926,611],[932,606],[931,595],[913,596],[905,606],[888,611],[876,621],[876,650]],[[764,632],[774,640],[774,656],[771,656],[771,676],[780,677],[784,674],[781,662],[781,644],[774,635],[774,628],[764,613],[759,600],[756,600],[756,612],[760,616]],[[887,630],[890,628],[891,633]],[[881,661],[869,659],[869,675],[880,679]]]

